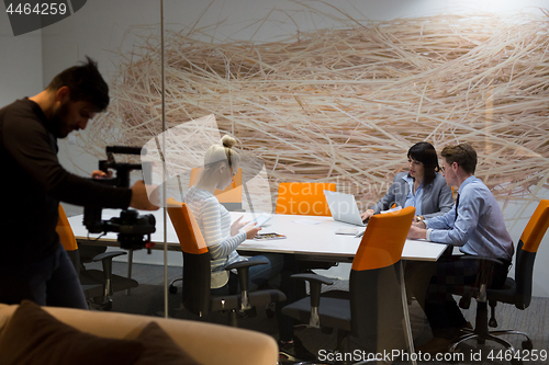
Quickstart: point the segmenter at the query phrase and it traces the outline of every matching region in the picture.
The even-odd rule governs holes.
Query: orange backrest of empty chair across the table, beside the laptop
[[[287,182],[278,185],[277,214],[329,216],[324,191],[336,191],[335,183]]]

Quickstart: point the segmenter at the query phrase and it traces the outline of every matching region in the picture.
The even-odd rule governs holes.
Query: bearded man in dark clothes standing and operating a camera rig
[[[64,70],[49,85],[0,110],[0,303],[88,308],[55,228],[59,201],[107,208],[156,210],[143,181],[131,189],[100,184],[66,171],[57,138],[85,129],[109,105],[97,64]],[[94,178],[102,172],[94,171]]]

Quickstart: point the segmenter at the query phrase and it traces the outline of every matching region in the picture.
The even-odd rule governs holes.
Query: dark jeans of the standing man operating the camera
[[[0,267],[0,303],[20,304],[23,299],[41,306],[88,309],[75,266],[63,246],[42,261]]]

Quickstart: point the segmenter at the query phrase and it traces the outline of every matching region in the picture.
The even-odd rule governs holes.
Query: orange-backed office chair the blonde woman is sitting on
[[[285,300],[285,295],[277,289],[248,290],[248,267],[265,263],[259,260],[236,262],[225,267],[227,271],[237,270],[240,293],[212,296],[210,253],[191,209],[187,204],[169,198],[168,215],[183,254],[182,297],[189,311],[200,317],[211,311],[227,311],[228,323],[236,327],[238,312]]]

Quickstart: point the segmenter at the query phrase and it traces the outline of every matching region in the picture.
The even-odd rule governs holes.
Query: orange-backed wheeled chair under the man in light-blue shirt
[[[485,341],[495,341],[508,350],[515,351],[514,346],[500,338],[502,334],[520,334],[526,338],[522,343],[523,349],[530,351],[533,343],[530,338],[519,331],[515,330],[498,330],[490,331],[490,327],[497,327],[495,320],[495,307],[498,301],[514,305],[516,308],[524,310],[528,308],[531,300],[531,285],[534,276],[534,261],[538,251],[541,239],[544,238],[547,229],[549,228],[549,201],[542,199],[539,202],[538,207],[528,220],[523,235],[516,249],[515,262],[515,278],[507,277],[505,284],[501,288],[490,287],[490,263],[489,260],[480,260],[484,270],[481,270],[481,280],[478,286],[453,286],[456,294],[462,296],[460,307],[468,309],[471,298],[477,299],[477,318],[475,328],[473,331],[466,331],[467,333],[460,335],[450,345],[450,351],[455,351],[457,346],[468,340],[477,340],[479,343]],[[464,294],[463,294],[464,293]],[[491,307],[491,317],[488,319],[488,305]],[[512,361],[519,363],[518,360]]]

